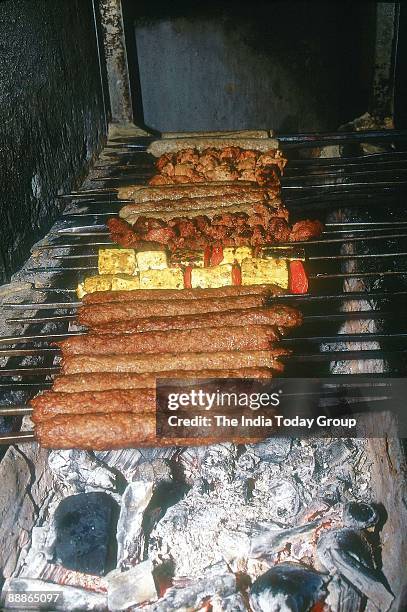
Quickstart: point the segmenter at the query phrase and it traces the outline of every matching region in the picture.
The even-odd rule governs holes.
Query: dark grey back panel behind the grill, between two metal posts
[[[374,2],[124,2],[146,126],[335,130],[369,106]],[[134,38],[134,35],[133,35]],[[135,75],[137,81],[138,75]]]

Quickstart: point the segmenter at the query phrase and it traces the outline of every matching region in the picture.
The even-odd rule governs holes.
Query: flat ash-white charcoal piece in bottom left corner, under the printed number
[[[43,580],[35,580],[32,578],[11,578],[7,580],[3,587],[3,593],[18,594],[22,593],[29,595],[30,593],[41,594],[45,596],[53,595],[52,607],[49,603],[39,604],[35,608],[31,606],[31,610],[56,610],[59,612],[105,612],[107,609],[107,597],[102,593],[93,593],[85,589],[78,589],[72,586],[61,584],[52,584],[52,582],[44,582]],[[0,599],[0,605],[2,601]],[[13,606],[16,609],[15,606]],[[1,607],[3,610],[3,606]],[[21,608],[20,608],[21,610]]]

